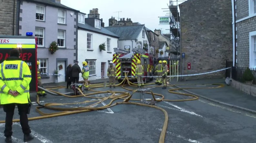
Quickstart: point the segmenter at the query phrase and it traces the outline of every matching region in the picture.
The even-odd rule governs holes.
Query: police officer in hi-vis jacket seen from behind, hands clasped
[[[20,124],[24,133],[24,142],[28,142],[34,137],[30,134],[27,114],[29,113],[31,101],[29,94],[29,84],[31,82],[31,72],[20,58],[18,49],[10,51],[10,57],[0,66],[0,103],[3,105],[5,117],[5,142],[12,142],[12,124],[15,104],[20,115]]]

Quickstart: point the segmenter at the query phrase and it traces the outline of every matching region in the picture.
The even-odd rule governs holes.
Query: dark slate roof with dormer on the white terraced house
[[[85,29],[85,30],[88,30],[88,31],[93,31],[93,32],[100,33],[100,34],[104,34],[104,35],[107,35],[107,36],[112,36],[112,37],[119,38],[118,35],[112,33],[111,31],[108,31],[104,27],[101,27],[101,29],[98,29],[98,28],[95,28],[95,27],[93,27],[93,26],[91,26],[87,23],[84,23],[84,24],[78,23],[78,28]]]

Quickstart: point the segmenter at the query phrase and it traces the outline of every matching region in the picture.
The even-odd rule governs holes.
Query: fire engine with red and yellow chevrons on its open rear
[[[122,82],[126,75],[130,81],[136,80],[135,69],[137,61],[141,61],[141,65],[144,67],[143,76],[153,76],[153,57],[148,53],[131,52],[128,54],[113,54],[113,64],[115,64],[118,82]],[[146,79],[145,79],[146,78]],[[153,80],[153,77],[143,77],[143,80]]]

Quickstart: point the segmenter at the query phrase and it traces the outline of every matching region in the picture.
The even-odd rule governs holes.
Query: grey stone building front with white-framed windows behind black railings
[[[256,66],[256,9],[255,0],[232,0],[233,6],[233,65]]]

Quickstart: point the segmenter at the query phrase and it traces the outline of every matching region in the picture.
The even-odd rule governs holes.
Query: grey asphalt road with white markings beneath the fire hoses
[[[222,80],[224,82],[224,79],[216,79],[215,82],[222,82]],[[198,80],[198,82],[202,81]],[[181,84],[185,83],[188,82],[182,82]],[[65,84],[63,83],[63,85]],[[189,86],[192,87],[195,85]],[[202,86],[203,85],[201,85],[201,87]],[[136,87],[127,87],[131,89],[137,89]],[[171,89],[175,87],[168,88]],[[226,86],[222,88],[226,88]],[[230,87],[228,86],[228,88]],[[64,88],[52,90],[63,93],[69,91],[68,89]],[[95,88],[95,90],[126,91],[120,86],[116,88]],[[164,99],[177,100],[190,98],[184,95],[168,93],[168,89],[162,90],[162,87],[150,87],[150,90],[152,90],[154,93],[164,95]],[[222,96],[227,96],[227,93],[221,93],[219,91],[219,88],[212,88],[207,90],[196,89],[193,92],[202,92],[201,90],[205,90],[204,92],[208,93],[216,92],[217,94],[222,94]],[[187,93],[182,90],[178,92]],[[86,93],[91,92],[86,91]],[[93,96],[105,97],[109,95],[110,94],[96,94]],[[214,94],[212,94],[212,96],[213,95]],[[28,114],[28,116],[40,116],[35,111],[35,107],[37,106],[37,104],[35,103],[35,96],[31,95],[31,98],[31,100],[33,101],[33,105],[31,113]],[[132,98],[139,99],[139,93],[135,93]],[[152,97],[149,94],[145,94],[145,98],[151,99]],[[40,103],[42,104],[77,103],[84,100],[93,101],[94,99],[88,99],[86,97],[68,98],[64,96],[54,96],[50,94],[46,95],[45,97],[40,97]],[[121,101],[123,100],[120,99],[115,102]],[[109,102],[110,100],[106,100],[101,104],[95,105],[95,107],[103,106],[104,104],[108,104]],[[90,104],[93,103],[69,104],[56,107],[75,108],[81,106],[88,106]],[[155,105],[161,107],[168,113],[168,126],[165,134],[165,143],[255,142],[255,114],[241,111],[235,108],[230,108],[219,103],[214,103],[204,98],[183,102],[162,101],[156,103]],[[47,110],[44,108],[41,109],[41,111],[47,113],[58,112]],[[15,110],[14,119],[18,118],[19,115],[17,113],[17,110]],[[5,113],[3,112],[3,110],[0,110],[0,120],[5,120]],[[138,105],[116,105],[100,111],[91,111],[29,121],[29,125],[32,129],[32,134],[35,136],[35,139],[30,141],[29,143],[157,143],[159,141],[163,121],[164,114],[160,110]],[[0,142],[4,142],[4,124],[0,124],[0,130]],[[22,143],[23,133],[21,131],[19,123],[14,123],[13,132],[13,142]]]

